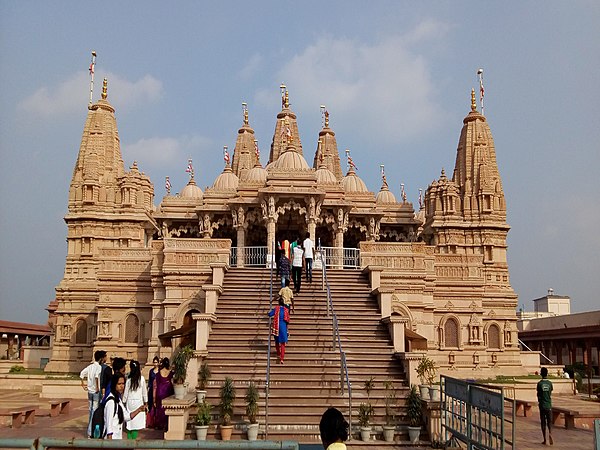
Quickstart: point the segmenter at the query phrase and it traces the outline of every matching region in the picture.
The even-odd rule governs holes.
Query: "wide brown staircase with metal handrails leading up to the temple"
[[[280,288],[273,279],[273,298]],[[225,377],[236,386],[232,439],[245,438],[244,396],[253,380],[260,389],[260,430],[267,429],[271,440],[292,439],[298,442],[319,441],[319,420],[329,406],[349,412],[348,391],[341,389],[340,355],[333,348],[332,318],[327,314],[327,293],[322,289],[320,272],[312,283],[305,283],[294,296],[295,310],[290,317],[289,342],[285,362],[278,364],[275,346],[271,348],[268,419],[265,387],[267,380],[267,345],[269,339],[268,269],[232,268],[224,280],[223,294],[217,307],[217,322],[208,341],[207,362],[212,378],[207,401],[213,405],[213,423],[217,423],[219,388]],[[407,387],[400,362],[393,347],[377,300],[370,295],[368,279],[359,270],[328,270],[333,305],[339,321],[342,348],[346,352],[352,386],[353,430],[358,431],[358,408],[367,400],[365,380],[373,377],[370,401],[375,408],[371,421],[379,428],[385,422],[384,381],[393,380],[398,397],[396,423],[403,424]],[[268,426],[266,426],[268,420]],[[379,441],[382,446],[383,442]]]

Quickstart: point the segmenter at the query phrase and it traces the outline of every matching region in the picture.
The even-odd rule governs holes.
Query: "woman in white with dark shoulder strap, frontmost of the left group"
[[[129,411],[123,403],[125,392],[125,375],[115,372],[110,380],[110,393],[104,401],[104,433],[105,439],[123,439],[123,424],[133,420],[139,413],[146,411],[146,405],[141,405]]]

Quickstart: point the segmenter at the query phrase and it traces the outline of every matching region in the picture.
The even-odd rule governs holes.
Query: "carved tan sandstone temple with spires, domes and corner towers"
[[[47,371],[80,370],[96,349],[146,364],[154,355],[171,357],[182,343],[192,343],[197,359],[210,361],[217,343],[228,342],[216,339],[215,331],[228,320],[235,326],[236,313],[223,303],[228,295],[255,302],[253,335],[262,324],[256,338],[262,347],[251,339],[231,345],[250,345],[264,365],[269,286],[258,280],[267,276],[277,242],[310,235],[320,243],[331,283],[339,283],[342,295],[336,298],[333,289],[332,297],[334,307],[340,305],[340,333],[346,323],[360,325],[360,312],[344,319],[348,309],[372,303],[372,342],[384,341],[399,378],[411,377],[410,363],[422,354],[453,376],[522,372],[506,203],[492,133],[475,94],[454,171],[441,172],[418,210],[405,195],[394,196],[385,175],[375,193],[351,159],[344,174],[328,113],[312,138],[315,154],[305,156],[289,105],[284,89],[266,167],[246,109],[231,161],[227,155],[212,186],[202,191],[192,170],[178,194],[168,192],[156,205],[154,185],[137,163],[124,167],[105,80],[102,98],[89,107],[69,189],[68,253],[48,307],[55,334]],[[315,270],[315,280],[298,297],[301,307],[325,302],[320,273]],[[228,285],[233,274],[257,282],[234,292]],[[343,289],[353,283],[366,288],[348,306]],[[279,281],[273,284],[276,293]],[[244,320],[239,329],[252,328],[254,316],[246,320],[238,313]],[[312,320],[304,313],[310,311],[294,319],[296,335],[304,332],[302,320]],[[352,333],[345,339],[351,348]],[[371,338],[356,340],[368,352]]]

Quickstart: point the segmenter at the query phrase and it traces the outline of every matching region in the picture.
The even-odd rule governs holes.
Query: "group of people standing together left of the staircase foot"
[[[162,401],[173,395],[169,359],[154,357],[148,383],[138,361],[129,361],[129,373],[124,358],[111,358],[110,365],[106,361],[106,352],[97,350],[94,361],[80,373],[81,386],[87,391],[89,401],[88,438],[123,439],[125,430],[127,439],[137,439],[139,430],[144,428],[166,430]],[[99,407],[103,408],[102,430],[93,424],[94,412]]]

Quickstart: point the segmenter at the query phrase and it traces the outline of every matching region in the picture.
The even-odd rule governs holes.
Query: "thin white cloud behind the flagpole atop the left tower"
[[[108,100],[115,108],[131,107],[150,103],[163,93],[162,82],[151,75],[137,81],[129,81],[113,73],[107,73]],[[89,101],[89,76],[80,71],[54,87],[41,87],[22,100],[18,109],[35,116],[50,117],[79,114]],[[100,98],[102,78],[94,80],[94,101]]]

